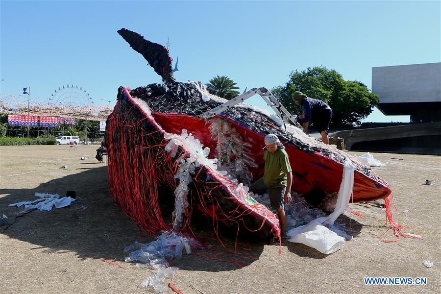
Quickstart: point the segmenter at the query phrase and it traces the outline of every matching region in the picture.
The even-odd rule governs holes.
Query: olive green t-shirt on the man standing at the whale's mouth
[[[277,147],[274,153],[264,149],[265,173],[264,182],[267,187],[286,187],[286,173],[291,172],[288,153],[285,149]]]

